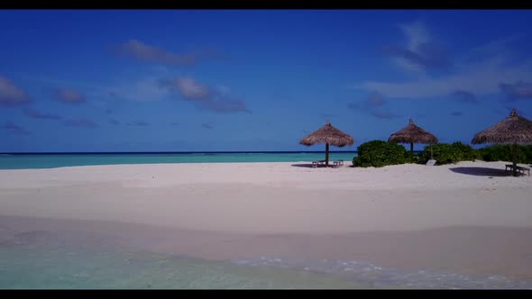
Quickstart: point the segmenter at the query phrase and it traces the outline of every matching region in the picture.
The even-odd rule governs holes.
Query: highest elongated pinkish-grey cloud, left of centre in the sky
[[[192,50],[187,53],[176,53],[135,39],[116,44],[114,49],[115,53],[119,56],[175,67],[194,66],[206,59],[226,59],[225,55],[222,55],[215,49],[201,49]]]

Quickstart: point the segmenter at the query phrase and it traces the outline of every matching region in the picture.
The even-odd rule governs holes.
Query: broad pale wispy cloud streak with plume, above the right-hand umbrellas
[[[401,28],[408,37],[405,46],[408,50],[422,49],[423,44],[432,41],[423,23],[411,23]],[[365,81],[353,87],[370,92],[378,91],[390,98],[428,99],[453,96],[458,101],[476,103],[478,96],[500,93],[501,83],[532,81],[532,59],[516,60],[509,47],[521,37],[522,35],[505,37],[463,51],[463,54],[454,58],[460,63],[454,64],[454,68],[446,69],[445,73],[438,74],[437,77],[424,73],[426,68],[421,67],[423,63],[415,63],[416,59],[401,57],[399,60],[403,66],[417,68],[422,73],[407,80]],[[438,56],[434,56],[436,57]],[[509,89],[508,86],[506,88]]]

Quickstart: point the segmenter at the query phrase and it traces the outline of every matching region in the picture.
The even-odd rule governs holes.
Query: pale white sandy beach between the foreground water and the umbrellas
[[[203,258],[363,259],[532,279],[532,177],[508,177],[504,164],[0,170],[0,238],[99,231]]]

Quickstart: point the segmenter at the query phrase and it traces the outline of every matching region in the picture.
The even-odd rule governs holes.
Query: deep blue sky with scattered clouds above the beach
[[[0,151],[323,150],[532,119],[532,11],[0,11]],[[338,149],[338,148],[332,148]],[[415,149],[421,149],[417,145]]]

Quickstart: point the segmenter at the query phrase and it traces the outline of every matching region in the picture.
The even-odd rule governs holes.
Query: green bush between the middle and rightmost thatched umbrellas
[[[426,146],[420,155],[419,161],[421,163],[427,163],[430,159],[431,146]],[[436,164],[450,164],[460,161],[474,161],[480,159],[479,152],[472,149],[471,146],[463,144],[462,142],[438,143],[432,145],[433,159],[436,160]]]

